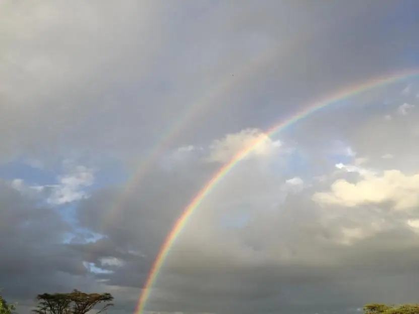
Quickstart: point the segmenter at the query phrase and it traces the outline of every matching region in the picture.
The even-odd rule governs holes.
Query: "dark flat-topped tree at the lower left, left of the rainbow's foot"
[[[37,314],[86,314],[97,304],[105,303],[97,312],[100,313],[113,305],[110,293],[84,293],[77,289],[70,293],[38,294],[36,299],[38,305],[33,311]]]

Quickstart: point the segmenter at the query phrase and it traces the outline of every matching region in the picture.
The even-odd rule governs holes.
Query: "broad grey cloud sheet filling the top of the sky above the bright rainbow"
[[[14,137],[2,140],[4,158],[137,157],[173,130],[171,142],[188,143],[265,127],[348,82],[408,67],[415,28],[394,3],[303,3],[8,5],[2,134]]]

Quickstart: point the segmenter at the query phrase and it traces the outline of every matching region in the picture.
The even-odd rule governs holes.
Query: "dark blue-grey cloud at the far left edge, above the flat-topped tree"
[[[0,182],[0,203],[0,287],[5,297],[33,300],[44,291],[94,286],[81,256],[62,244],[72,229],[56,210],[39,207],[5,181]]]

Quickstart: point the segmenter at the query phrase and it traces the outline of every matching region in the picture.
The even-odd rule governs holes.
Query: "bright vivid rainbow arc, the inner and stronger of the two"
[[[325,97],[324,99],[315,102],[314,104],[310,105],[306,109],[295,113],[289,119],[276,124],[273,128],[269,129],[265,134],[267,136],[272,136],[279,131],[284,130],[289,125],[294,124],[295,122],[304,119],[311,114],[323,109],[325,107],[331,106],[333,104],[338,103],[339,101],[361,94],[373,88],[382,87],[385,85],[397,83],[399,81],[413,79],[419,76],[419,70],[409,70],[404,71],[398,74],[393,74],[386,77],[379,77],[369,81],[366,81],[361,84],[352,85],[346,88],[339,90],[338,92]],[[216,174],[205,184],[205,186],[201,189],[201,191],[197,194],[197,196],[192,200],[192,202],[186,207],[182,215],[177,219],[175,224],[173,225],[172,230],[167,235],[163,245],[160,248],[160,252],[157,255],[157,258],[149,272],[149,276],[147,281],[144,285],[143,292],[140,296],[136,313],[142,313],[144,310],[145,303],[150,296],[151,288],[159,274],[159,271],[164,263],[167,254],[169,253],[170,247],[173,245],[174,241],[176,240],[179,233],[185,227],[188,222],[188,218],[191,217],[193,212],[199,207],[202,201],[212,192],[212,190],[216,187],[217,183],[224,178],[227,173],[242,159],[244,159],[261,141],[264,140],[264,137],[256,140],[250,146],[245,148],[244,150],[238,152],[228,163],[223,165]]]

